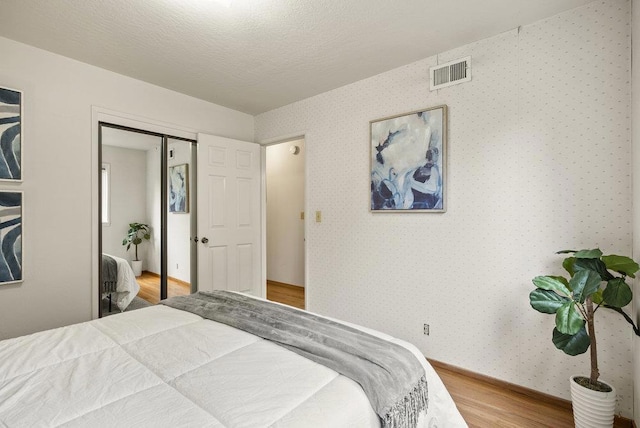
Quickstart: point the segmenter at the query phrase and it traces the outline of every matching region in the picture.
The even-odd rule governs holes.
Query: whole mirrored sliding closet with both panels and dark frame
[[[195,291],[196,142],[98,126],[99,316]]]

